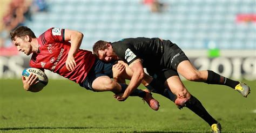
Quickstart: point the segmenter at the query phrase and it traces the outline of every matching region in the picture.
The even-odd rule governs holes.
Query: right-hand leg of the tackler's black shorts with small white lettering
[[[161,62],[161,68],[163,69],[172,69],[177,71],[179,63],[188,60],[183,50],[170,40],[163,41],[163,48],[164,53]]]

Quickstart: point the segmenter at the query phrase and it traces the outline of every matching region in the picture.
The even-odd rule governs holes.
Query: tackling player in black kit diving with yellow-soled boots
[[[159,38],[127,38],[117,42],[97,41],[93,46],[93,53],[100,60],[109,62],[123,60],[134,72],[126,91],[116,98],[124,101],[129,97],[134,88],[143,79],[144,69],[150,76],[168,86],[184,102],[176,102],[182,108],[186,106],[204,119],[213,131],[220,131],[220,124],[207,113],[200,101],[191,95],[181,82],[178,73],[188,80],[205,82],[208,84],[227,85],[240,92],[244,97],[250,93],[250,88],[244,84],[224,76],[220,76],[211,70],[199,71],[193,67],[184,52],[170,40]],[[150,87],[148,87],[150,89]],[[181,103],[181,104],[180,104]]]

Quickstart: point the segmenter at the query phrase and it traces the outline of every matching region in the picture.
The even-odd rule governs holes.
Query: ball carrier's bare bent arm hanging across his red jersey
[[[73,71],[76,67],[75,55],[82,43],[83,33],[78,31],[72,31],[69,29],[65,29],[64,39],[65,41],[71,42],[71,47],[68,53],[68,58],[66,59],[66,68],[69,71]]]

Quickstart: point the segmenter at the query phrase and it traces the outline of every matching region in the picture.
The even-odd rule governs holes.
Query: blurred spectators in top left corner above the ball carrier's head
[[[46,12],[44,0],[1,0],[0,11],[0,49],[11,49],[10,31],[22,26],[26,21],[32,21],[32,15]],[[2,53],[3,54],[3,53]]]

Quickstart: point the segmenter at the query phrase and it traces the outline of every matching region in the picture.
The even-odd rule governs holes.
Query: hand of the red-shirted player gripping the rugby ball
[[[22,76],[22,82],[23,82],[23,88],[24,88],[26,91],[29,91],[29,88],[30,88],[32,85],[38,83],[39,80],[37,80],[36,75],[34,75],[33,73],[31,73],[28,78],[25,78],[24,76]]]

